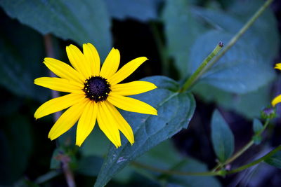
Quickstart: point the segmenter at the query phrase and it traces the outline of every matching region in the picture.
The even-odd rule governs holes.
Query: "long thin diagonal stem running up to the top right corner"
[[[200,76],[202,76],[202,74],[204,74],[212,65],[214,65],[214,63],[218,62],[218,60],[221,59],[221,57],[237,42],[238,39],[240,39],[240,37],[242,36],[242,34],[244,34],[244,32],[247,31],[247,29],[249,29],[249,27],[251,27],[251,25],[254,24],[254,22],[256,21],[256,19],[259,18],[259,16],[261,15],[261,13],[263,13],[263,11],[266,10],[266,8],[268,8],[268,6],[272,3],[273,0],[268,0],[266,1],[263,6],[261,6],[259,8],[258,11],[256,11],[256,13],[254,13],[254,15],[248,20],[248,22],[240,29],[239,32],[237,32],[237,34],[235,34],[235,36],[233,36],[233,38],[228,42],[228,44],[226,45],[226,48],[224,48],[221,53],[219,53],[214,60],[212,60],[209,64],[208,67],[206,67],[206,65],[204,66],[205,68],[200,69],[200,74],[198,74],[196,71],[195,73],[197,74],[197,76],[194,76],[194,74],[192,74],[192,76],[185,82],[185,84],[183,85],[183,88],[181,89],[181,92],[187,90],[188,88],[191,87],[192,84],[195,83],[195,81],[197,81],[198,78],[200,78]],[[202,64],[204,64],[204,61],[202,62]],[[190,80],[191,79],[191,80]],[[190,82],[190,83],[188,83]]]

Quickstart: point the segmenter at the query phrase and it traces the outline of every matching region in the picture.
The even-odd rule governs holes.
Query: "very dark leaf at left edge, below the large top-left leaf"
[[[0,24],[0,84],[15,95],[46,100],[49,92],[33,83],[46,75],[42,36],[5,15]]]

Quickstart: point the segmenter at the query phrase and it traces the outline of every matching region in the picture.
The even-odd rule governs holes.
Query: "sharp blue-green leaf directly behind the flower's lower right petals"
[[[143,81],[157,85],[157,89],[136,95],[134,98],[151,104],[158,116],[122,111],[133,128],[135,143],[122,141],[118,149],[110,146],[95,186],[105,186],[122,168],[160,142],[188,127],[195,110],[195,100],[190,93],[178,93],[178,83],[164,76],[152,76]]]

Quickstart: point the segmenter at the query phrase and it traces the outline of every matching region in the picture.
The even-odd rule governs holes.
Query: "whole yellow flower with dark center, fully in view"
[[[58,138],[79,120],[76,144],[81,146],[97,120],[100,130],[117,148],[121,146],[119,130],[133,144],[133,130],[115,106],[126,111],[157,115],[157,110],[149,104],[125,97],[157,87],[146,81],[119,83],[148,59],[138,57],[117,71],[120,53],[115,48],[107,55],[101,69],[100,57],[91,43],[83,45],[83,53],[73,45],[67,46],[66,51],[74,69],[60,60],[46,57],[44,64],[60,78],[41,77],[34,80],[34,84],[69,93],[45,102],[34,113],[34,117],[38,119],[69,107],[55,122],[48,138]]]

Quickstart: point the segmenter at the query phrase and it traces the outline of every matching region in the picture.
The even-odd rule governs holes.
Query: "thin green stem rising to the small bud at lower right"
[[[266,123],[263,125],[262,130],[257,133],[257,135],[261,135],[261,133],[266,130],[266,127],[268,127],[270,119],[266,119]],[[251,141],[249,141],[243,148],[240,149],[240,151],[237,151],[237,153],[235,153],[232,157],[228,158],[228,160],[226,160],[226,162],[223,163],[218,163],[218,165],[216,165],[216,167],[214,167],[214,169],[212,169],[212,171],[216,171],[216,169],[222,168],[225,165],[228,165],[230,162],[233,162],[233,160],[235,160],[236,158],[240,157],[240,155],[242,155],[245,151],[247,151],[252,145],[254,144],[254,141],[251,139]]]

